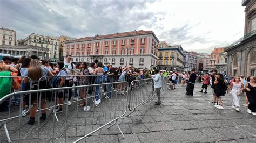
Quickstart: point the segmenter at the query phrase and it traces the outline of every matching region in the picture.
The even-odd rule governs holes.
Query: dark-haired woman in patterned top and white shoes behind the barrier
[[[87,69],[87,64],[86,62],[82,62],[81,63],[81,69],[80,69],[80,73],[78,73],[78,75],[84,75],[82,77],[79,78],[78,80],[78,85],[89,85],[89,70]],[[78,104],[78,106],[84,106],[84,111],[88,111],[90,110],[90,106],[85,106],[85,98],[86,98],[86,89],[87,87],[81,88],[80,89],[80,94],[81,94],[81,98],[82,101],[80,104]]]

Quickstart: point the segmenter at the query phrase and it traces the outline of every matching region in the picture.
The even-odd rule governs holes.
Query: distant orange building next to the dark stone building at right
[[[210,58],[210,70],[217,69],[216,65],[219,63],[221,53],[224,53],[223,47],[213,49]]]

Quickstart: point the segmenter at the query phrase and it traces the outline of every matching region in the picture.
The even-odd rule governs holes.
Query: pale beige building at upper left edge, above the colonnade
[[[8,28],[0,28],[0,45],[16,45],[16,32]]]

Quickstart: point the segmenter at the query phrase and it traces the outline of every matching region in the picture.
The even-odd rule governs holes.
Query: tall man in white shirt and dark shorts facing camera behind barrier
[[[66,55],[66,59],[64,61],[64,68],[66,69],[67,75],[70,75],[70,77],[66,77],[65,79],[65,87],[72,87],[73,86],[73,77],[71,75],[75,75],[75,69],[76,66],[71,62],[71,55]],[[69,96],[68,96],[68,105],[71,105],[70,99],[72,97],[72,89],[68,90]],[[65,96],[64,96],[65,101]]]

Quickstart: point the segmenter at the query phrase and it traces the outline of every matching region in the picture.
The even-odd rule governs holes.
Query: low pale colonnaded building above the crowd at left
[[[37,55],[39,60],[47,60],[49,58],[49,49],[38,46],[10,46],[0,45],[0,53],[9,54],[11,56],[31,56]]]

